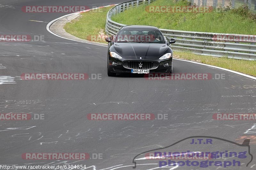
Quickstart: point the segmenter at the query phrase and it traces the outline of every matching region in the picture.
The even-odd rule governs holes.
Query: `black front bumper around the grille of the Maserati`
[[[131,73],[132,69],[124,68],[124,61],[155,61],[158,63],[158,67],[156,69],[149,70],[149,73],[169,73],[172,69],[172,58],[166,60],[125,60],[125,59],[117,59],[113,57],[108,58],[108,69],[110,72],[114,73]],[[112,62],[117,63],[117,65],[112,65]],[[169,63],[169,66],[164,66],[165,63]]]

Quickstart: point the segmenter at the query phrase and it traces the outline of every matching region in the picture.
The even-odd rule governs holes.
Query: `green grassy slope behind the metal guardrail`
[[[150,5],[186,6],[187,2],[157,0]],[[256,35],[256,20],[242,16],[235,10],[209,13],[149,13],[145,10],[146,6],[130,8],[113,16],[112,20],[126,25],[150,25],[172,30]]]

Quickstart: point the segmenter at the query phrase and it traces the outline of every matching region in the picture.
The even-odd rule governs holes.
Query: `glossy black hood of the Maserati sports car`
[[[124,57],[158,57],[164,53],[168,46],[160,43],[115,43],[117,53]]]

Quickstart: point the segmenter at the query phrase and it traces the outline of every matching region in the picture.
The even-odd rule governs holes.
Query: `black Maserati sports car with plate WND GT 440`
[[[108,76],[116,73],[172,73],[172,48],[155,26],[124,26],[108,42]]]

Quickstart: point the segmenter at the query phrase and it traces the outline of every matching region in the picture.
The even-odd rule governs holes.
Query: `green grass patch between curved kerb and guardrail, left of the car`
[[[106,16],[111,8],[105,7],[98,12],[84,12],[79,18],[67,23],[64,29],[66,32],[85,40],[91,35],[105,34]],[[107,43],[105,40],[97,42]]]

